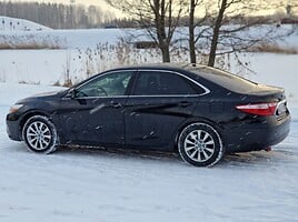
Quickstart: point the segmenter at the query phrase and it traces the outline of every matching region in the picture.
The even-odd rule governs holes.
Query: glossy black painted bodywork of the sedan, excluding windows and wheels
[[[135,68],[121,68],[115,71],[131,69]],[[195,97],[130,97],[133,90],[130,85],[127,95],[122,97],[97,99],[69,97],[71,90],[79,84],[56,94],[43,94],[19,101],[18,103],[24,107],[7,117],[9,137],[12,140],[22,140],[21,125],[28,117],[36,113],[51,118],[62,144],[120,144],[173,150],[179,132],[186,125],[198,121],[210,123],[218,130],[227,152],[261,150],[280,142],[289,133],[288,111],[284,118],[278,119],[275,115],[257,117],[236,109],[239,104],[281,101],[285,94],[279,88],[257,85],[254,91],[240,94],[175,67],[136,69],[179,72],[210,89],[210,92]]]

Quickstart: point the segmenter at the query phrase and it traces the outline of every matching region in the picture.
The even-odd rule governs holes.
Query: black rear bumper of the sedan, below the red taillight
[[[282,120],[275,117],[255,119],[254,122],[240,123],[236,129],[222,133],[227,153],[265,150],[276,145],[290,132],[290,114]]]

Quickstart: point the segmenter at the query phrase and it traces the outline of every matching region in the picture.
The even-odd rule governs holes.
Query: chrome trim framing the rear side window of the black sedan
[[[130,98],[145,98],[145,97],[149,97],[149,98],[156,98],[156,97],[159,97],[159,98],[160,97],[171,97],[171,98],[177,98],[177,97],[201,97],[201,95],[210,93],[210,90],[207,87],[202,85],[201,83],[197,82],[196,80],[193,80],[193,79],[191,79],[191,78],[189,78],[189,77],[187,77],[187,75],[185,75],[185,74],[182,74],[180,72],[177,72],[177,71],[161,70],[161,69],[138,69],[137,71],[138,72],[137,72],[137,78],[135,80],[135,85],[133,85],[132,93],[135,93],[136,82],[137,82],[137,80],[139,78],[140,72],[142,72],[142,71],[146,71],[146,72],[167,72],[167,73],[172,73],[172,74],[180,75],[183,79],[187,79],[188,81],[190,81],[190,82],[195,83],[196,85],[200,87],[202,90],[205,90],[205,92],[200,93],[200,94],[147,94],[147,95],[146,94],[138,95],[138,94],[132,94],[131,93],[131,94],[129,94]]]

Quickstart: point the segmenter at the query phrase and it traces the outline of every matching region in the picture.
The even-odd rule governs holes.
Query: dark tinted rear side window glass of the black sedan
[[[187,79],[171,72],[141,71],[135,87],[136,95],[198,94]]]

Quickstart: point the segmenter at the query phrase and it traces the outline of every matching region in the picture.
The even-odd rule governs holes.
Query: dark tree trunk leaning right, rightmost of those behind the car
[[[227,7],[227,0],[221,0],[221,6],[220,6],[218,17],[215,23],[215,28],[213,28],[213,36],[211,40],[211,48],[210,48],[209,61],[208,61],[209,67],[215,67],[218,37],[219,37],[219,31],[220,31],[220,27],[222,23],[224,14],[226,11],[226,7]]]

